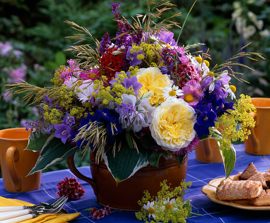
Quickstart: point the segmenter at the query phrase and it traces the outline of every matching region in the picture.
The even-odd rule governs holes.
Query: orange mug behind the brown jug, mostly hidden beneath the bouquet
[[[200,141],[197,147],[195,147],[195,156],[197,161],[203,163],[223,162],[221,153],[218,148],[219,147],[215,139],[206,139]]]

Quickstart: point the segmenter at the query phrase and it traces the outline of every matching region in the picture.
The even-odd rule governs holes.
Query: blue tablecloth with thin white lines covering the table
[[[242,144],[234,146],[236,150],[236,164],[232,175],[242,172],[248,165],[253,162],[259,172],[267,172],[270,165],[270,155],[254,156],[245,153]],[[80,172],[86,176],[91,176],[90,167],[84,166],[78,168]],[[269,211],[242,210],[234,207],[229,207],[214,203],[201,192],[201,187],[207,184],[210,180],[217,177],[223,177],[225,174],[223,163],[201,163],[195,159],[195,152],[188,155],[188,170],[187,181],[192,182],[192,186],[185,194],[185,199],[191,198],[193,212],[199,213],[202,216],[191,216],[187,219],[191,222],[270,222]],[[5,198],[15,198],[38,204],[40,201],[52,202],[58,196],[56,184],[65,177],[75,177],[69,169],[57,170],[52,172],[42,173],[40,189],[25,193],[11,193],[4,190],[3,180],[0,179],[0,196]],[[85,195],[78,200],[68,200],[65,204],[65,209],[69,213],[81,212],[81,215],[70,221],[70,223],[84,222],[143,222],[136,219],[134,212],[111,210],[112,214],[105,216],[102,219],[92,219],[89,211],[83,211],[86,208],[96,207],[103,208],[96,202],[96,197],[91,186],[78,179],[86,191]]]

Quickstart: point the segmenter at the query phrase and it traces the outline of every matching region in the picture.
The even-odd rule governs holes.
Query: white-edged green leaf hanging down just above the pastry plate
[[[219,144],[219,143],[218,143]],[[222,160],[224,163],[224,168],[226,172],[226,179],[230,176],[232,170],[234,169],[235,161],[236,161],[236,152],[234,147],[231,145],[230,149],[224,149],[220,151],[222,155]]]

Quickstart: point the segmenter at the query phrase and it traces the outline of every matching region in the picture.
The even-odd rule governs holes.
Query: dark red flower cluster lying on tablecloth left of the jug
[[[73,200],[81,198],[85,194],[82,185],[73,177],[70,177],[69,179],[68,177],[65,177],[65,179],[59,182],[56,186],[59,189],[59,191],[56,192],[59,197],[66,195],[68,198]]]

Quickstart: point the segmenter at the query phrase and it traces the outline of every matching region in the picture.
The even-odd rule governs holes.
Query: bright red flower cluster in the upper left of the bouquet
[[[122,71],[124,55],[123,53],[114,55],[113,52],[117,50],[117,47],[108,48],[104,53],[101,54],[102,57],[99,58],[100,68],[103,70],[104,75],[108,78],[108,82],[115,77],[116,72]]]

